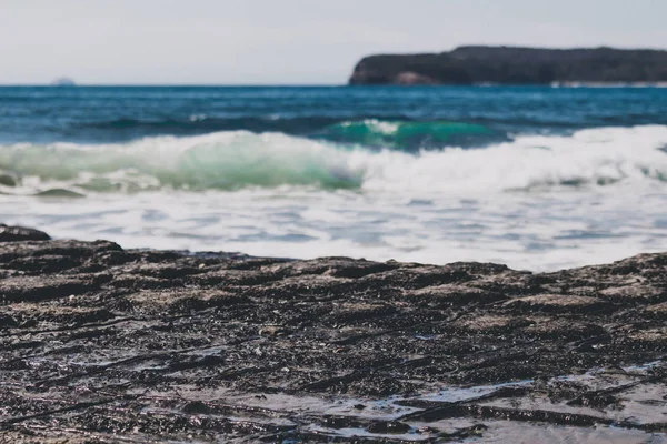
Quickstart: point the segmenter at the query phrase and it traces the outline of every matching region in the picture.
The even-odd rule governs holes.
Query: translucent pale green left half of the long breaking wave
[[[125,144],[17,144],[0,149],[0,171],[20,185],[89,191],[246,186],[359,188],[364,172],[346,151],[280,133],[246,131],[146,138]]]

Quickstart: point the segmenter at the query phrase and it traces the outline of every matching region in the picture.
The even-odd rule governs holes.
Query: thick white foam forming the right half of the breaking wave
[[[606,128],[567,137],[519,137],[486,149],[354,152],[365,190],[488,193],[552,185],[667,180],[667,127]]]

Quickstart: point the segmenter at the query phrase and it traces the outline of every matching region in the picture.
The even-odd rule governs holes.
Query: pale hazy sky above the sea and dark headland
[[[344,84],[372,53],[667,48],[667,0],[0,0],[0,84]]]

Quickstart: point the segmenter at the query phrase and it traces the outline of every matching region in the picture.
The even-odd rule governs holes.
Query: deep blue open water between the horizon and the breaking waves
[[[355,142],[336,127],[366,120],[456,122],[514,134],[667,124],[664,88],[0,87],[0,107],[2,142],[236,130]],[[421,139],[409,148],[430,142]]]

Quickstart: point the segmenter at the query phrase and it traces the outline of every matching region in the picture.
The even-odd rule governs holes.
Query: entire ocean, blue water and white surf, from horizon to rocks
[[[0,222],[550,271],[667,251],[667,89],[0,88]]]

